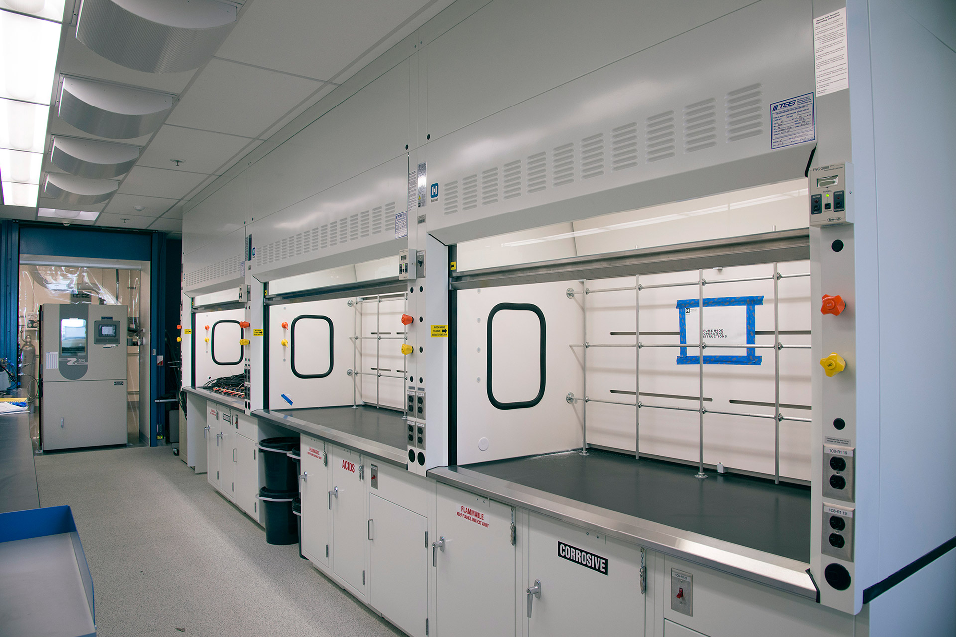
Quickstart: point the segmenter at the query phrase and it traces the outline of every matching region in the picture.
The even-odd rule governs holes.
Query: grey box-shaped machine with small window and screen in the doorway
[[[126,306],[40,307],[45,451],[126,444]]]

